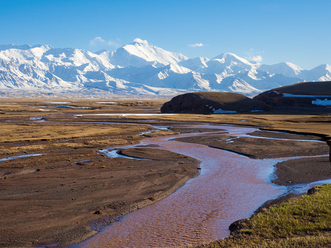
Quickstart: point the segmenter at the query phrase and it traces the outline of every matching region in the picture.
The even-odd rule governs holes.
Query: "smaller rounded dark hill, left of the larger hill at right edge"
[[[194,92],[178,95],[161,107],[162,113],[235,113],[269,111],[262,101],[230,92]]]

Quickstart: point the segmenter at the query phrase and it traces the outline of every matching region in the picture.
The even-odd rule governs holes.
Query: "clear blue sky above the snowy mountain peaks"
[[[311,69],[331,63],[330,7],[306,0],[2,1],[0,44],[95,52],[140,38],[190,58],[230,52]]]

